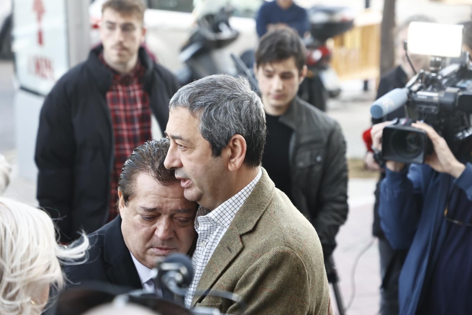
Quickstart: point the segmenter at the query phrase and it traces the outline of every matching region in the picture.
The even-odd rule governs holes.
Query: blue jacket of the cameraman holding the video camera
[[[402,315],[414,315],[421,303],[423,285],[430,279],[427,267],[437,260],[450,227],[443,213],[454,186],[464,191],[472,208],[470,163],[457,179],[428,165],[386,171],[380,188],[380,224],[393,248],[410,248],[398,283]]]

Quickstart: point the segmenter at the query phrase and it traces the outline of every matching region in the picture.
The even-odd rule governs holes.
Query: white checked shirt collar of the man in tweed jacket
[[[255,185],[259,182],[262,175],[262,169],[259,167],[259,173],[256,177],[247,184],[243,189],[237,192],[233,197],[220,204],[213,211],[200,206],[195,217],[195,230],[198,232],[200,224],[207,222],[215,222],[220,226],[228,227],[236,215],[236,212],[241,208],[247,197],[253,192]],[[231,205],[231,207],[230,207]],[[228,211],[228,209],[231,209]]]

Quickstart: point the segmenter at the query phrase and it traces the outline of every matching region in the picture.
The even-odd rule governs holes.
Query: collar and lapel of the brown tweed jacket
[[[192,306],[202,301],[205,295],[201,295],[200,292],[211,289],[228,265],[243,250],[244,244],[241,236],[254,229],[272,200],[274,188],[274,183],[270,180],[266,170],[262,168],[262,176],[259,182],[237,211],[231,225],[211,255],[198,283],[197,292],[199,294],[194,296]]]

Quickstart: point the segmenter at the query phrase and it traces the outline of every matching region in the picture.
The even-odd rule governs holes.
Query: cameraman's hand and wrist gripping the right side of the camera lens
[[[455,158],[451,149],[447,146],[446,140],[424,122],[412,123],[412,127],[426,131],[426,134],[433,143],[434,151],[430,156],[426,157],[426,164],[439,173],[447,173],[455,178],[459,177],[464,171],[465,165]]]

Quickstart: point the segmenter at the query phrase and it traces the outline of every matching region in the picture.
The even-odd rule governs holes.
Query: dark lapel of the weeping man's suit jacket
[[[121,233],[121,217],[118,215],[109,223],[103,241],[103,259],[110,265],[106,271],[111,283],[142,289],[128,247]]]

